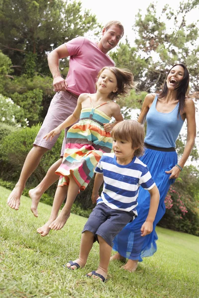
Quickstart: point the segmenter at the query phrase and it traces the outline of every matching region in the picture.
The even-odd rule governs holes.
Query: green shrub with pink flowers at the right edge
[[[165,198],[166,214],[160,225],[199,235],[199,170],[184,167]]]

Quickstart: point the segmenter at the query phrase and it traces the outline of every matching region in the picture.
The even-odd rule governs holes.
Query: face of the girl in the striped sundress
[[[97,88],[101,93],[116,92],[118,90],[116,76],[108,69],[103,70],[97,81]]]

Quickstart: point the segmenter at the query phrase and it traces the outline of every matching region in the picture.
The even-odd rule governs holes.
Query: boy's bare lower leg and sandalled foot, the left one
[[[78,263],[81,268],[83,268],[87,263],[87,259],[92,249],[93,243],[94,243],[94,234],[92,232],[85,231],[84,233],[82,233],[79,258],[73,261],[74,263]],[[71,266],[70,263],[67,263],[66,266],[73,270],[77,269],[77,266],[75,265]]]

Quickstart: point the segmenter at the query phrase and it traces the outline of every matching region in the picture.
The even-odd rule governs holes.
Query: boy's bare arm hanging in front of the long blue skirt
[[[152,232],[153,222],[156,217],[159,200],[160,200],[159,190],[156,185],[149,190],[149,193],[151,196],[150,208],[149,208],[149,213],[148,213],[147,219],[146,219],[145,223],[142,224],[142,227],[141,227],[141,236],[146,236]]]

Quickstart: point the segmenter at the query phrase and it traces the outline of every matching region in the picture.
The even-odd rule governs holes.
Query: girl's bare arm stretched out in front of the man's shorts
[[[80,113],[82,110],[82,102],[85,99],[84,94],[80,94],[77,100],[77,106],[73,112],[72,115],[70,115],[62,124],[60,124],[58,127],[50,131],[47,135],[44,136],[44,139],[46,141],[50,138],[50,141],[52,140],[53,137],[58,135],[63,129],[67,128],[68,126],[71,126],[74,124],[79,118],[80,118]]]

